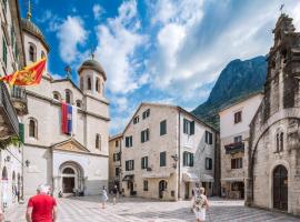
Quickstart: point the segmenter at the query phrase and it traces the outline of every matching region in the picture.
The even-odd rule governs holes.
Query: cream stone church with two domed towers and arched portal
[[[30,12],[21,27],[27,64],[48,57],[49,44]],[[39,85],[26,88],[28,111],[20,117],[24,125],[24,195],[34,194],[42,183],[50,184],[54,195],[97,194],[108,183],[106,72],[93,58],[79,68],[79,87],[68,72],[56,80],[46,70]],[[62,103],[72,109],[70,133],[61,130]]]

